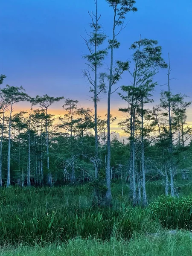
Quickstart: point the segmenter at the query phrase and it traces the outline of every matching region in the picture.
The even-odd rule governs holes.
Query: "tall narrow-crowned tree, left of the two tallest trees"
[[[97,13],[97,0],[95,0],[96,13],[88,12],[91,17],[90,27],[93,28],[93,31],[88,35],[88,40],[84,39],[85,44],[87,45],[87,49],[89,50],[88,55],[84,55],[84,58],[88,61],[87,66],[88,69],[84,70],[84,76],[87,78],[90,84],[90,92],[93,93],[93,101],[94,101],[94,132],[95,132],[95,179],[98,178],[98,122],[97,122],[97,102],[99,101],[99,95],[101,93],[105,93],[105,73],[99,73],[98,69],[102,66],[102,61],[107,55],[107,49],[98,49],[105,41],[106,35],[102,32],[102,26],[99,25],[99,20],[101,15]],[[91,73],[93,72],[93,77]],[[98,76],[99,76],[99,84],[98,84]],[[96,197],[98,192],[96,191]]]

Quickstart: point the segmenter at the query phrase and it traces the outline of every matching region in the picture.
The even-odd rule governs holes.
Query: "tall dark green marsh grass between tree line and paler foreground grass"
[[[91,237],[92,240],[89,242],[110,241],[111,243],[111,239],[114,239],[117,244],[121,244],[123,240],[130,241],[135,234],[142,237],[148,233],[162,231],[163,226],[177,228],[177,223],[180,223],[178,226],[180,228],[191,227],[189,225],[191,196],[190,200],[181,200],[186,202],[185,216],[190,217],[185,218],[188,226],[186,227],[185,223],[182,226],[180,217],[178,222],[178,215],[177,223],[175,221],[174,225],[163,224],[162,219],[166,219],[166,204],[169,205],[169,201],[165,202],[163,208],[165,199],[160,197],[159,203],[155,199],[163,193],[163,189],[160,181],[147,183],[149,201],[156,202],[154,206],[157,211],[156,214],[152,214],[151,207],[145,209],[139,206],[131,207],[128,186],[118,182],[112,185],[113,207],[111,208],[92,206],[93,188],[89,184],[52,188],[2,188],[0,189],[0,245],[22,243],[23,246],[37,246],[37,244],[43,246],[49,243],[61,244],[74,241],[72,239],[77,237],[80,238],[79,241],[84,239],[80,243],[87,242],[86,239]],[[181,195],[185,194],[185,198],[187,198],[186,193],[189,195],[191,191],[190,185],[182,186],[180,189]],[[175,200],[177,202],[177,199]],[[159,204],[161,208],[158,208]],[[175,207],[174,203],[173,207]],[[169,215],[169,222],[175,220],[176,215],[172,216],[172,208]]]

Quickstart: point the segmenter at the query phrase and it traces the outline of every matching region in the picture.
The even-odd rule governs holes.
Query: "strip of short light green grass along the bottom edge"
[[[18,245],[1,247],[0,256],[191,256],[192,238],[189,232],[175,236],[164,233],[160,237],[140,236],[131,241],[99,241],[73,239],[65,244],[47,244],[45,247]]]

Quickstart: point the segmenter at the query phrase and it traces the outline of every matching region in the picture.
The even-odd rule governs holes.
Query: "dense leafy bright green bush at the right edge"
[[[192,230],[192,197],[161,196],[149,208],[152,217],[158,219],[163,227]]]

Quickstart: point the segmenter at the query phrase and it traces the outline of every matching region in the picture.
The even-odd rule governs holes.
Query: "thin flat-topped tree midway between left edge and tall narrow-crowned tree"
[[[46,148],[47,148],[47,183],[49,186],[52,186],[52,174],[49,169],[49,131],[48,131],[48,108],[54,104],[55,102],[59,102],[61,99],[64,99],[64,97],[50,97],[47,94],[44,94],[42,97],[41,96],[36,96],[35,101],[37,104],[41,106],[45,110],[46,113]]]

